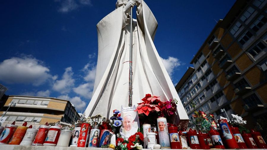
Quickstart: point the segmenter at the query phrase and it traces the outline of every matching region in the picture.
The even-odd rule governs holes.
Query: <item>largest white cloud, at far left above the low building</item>
[[[24,83],[39,86],[52,75],[43,62],[31,56],[12,57],[0,63],[0,80],[5,83]]]

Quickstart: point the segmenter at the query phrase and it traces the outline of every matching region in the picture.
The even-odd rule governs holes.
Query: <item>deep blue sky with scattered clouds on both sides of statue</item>
[[[176,84],[235,1],[146,0],[158,21],[154,44]],[[116,0],[0,2],[0,83],[7,95],[68,99],[80,112],[93,91],[96,24]]]

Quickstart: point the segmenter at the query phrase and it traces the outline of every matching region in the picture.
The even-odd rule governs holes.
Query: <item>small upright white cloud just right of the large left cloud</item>
[[[72,78],[73,72],[71,67],[67,67],[61,80],[55,80],[53,90],[60,92],[61,94],[67,93],[74,86],[75,80]]]

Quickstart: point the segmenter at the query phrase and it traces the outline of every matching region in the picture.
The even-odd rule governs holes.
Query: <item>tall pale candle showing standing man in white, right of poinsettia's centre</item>
[[[159,144],[161,147],[170,147],[170,138],[167,128],[167,120],[166,118],[158,118],[158,137],[159,137]]]

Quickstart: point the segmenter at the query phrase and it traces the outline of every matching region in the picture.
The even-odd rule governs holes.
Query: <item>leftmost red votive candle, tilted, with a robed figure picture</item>
[[[17,128],[18,126],[15,125],[15,121],[11,125],[6,125],[0,135],[0,144],[8,144]]]

